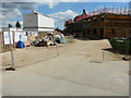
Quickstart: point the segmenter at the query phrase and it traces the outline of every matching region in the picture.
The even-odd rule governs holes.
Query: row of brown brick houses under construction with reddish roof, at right
[[[74,34],[75,37],[93,39],[127,37],[128,34],[131,35],[131,16],[110,12],[87,15],[83,10],[82,15],[75,16],[74,21],[66,23],[64,26],[66,30]]]

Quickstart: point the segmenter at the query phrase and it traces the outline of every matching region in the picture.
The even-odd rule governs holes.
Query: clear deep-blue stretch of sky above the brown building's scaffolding
[[[82,10],[85,9],[87,12],[94,9],[98,9],[103,5],[120,8],[120,5],[128,7],[128,2],[60,2],[53,7],[53,9],[49,9],[48,5],[40,5],[38,10],[40,13],[56,13],[56,12],[64,12],[67,10],[72,10],[76,13],[82,13]]]

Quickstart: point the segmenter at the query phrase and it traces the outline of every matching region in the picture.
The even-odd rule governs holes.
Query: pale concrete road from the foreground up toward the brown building
[[[3,96],[128,96],[129,62],[102,61],[105,41],[82,41],[59,48],[59,58],[2,71]]]

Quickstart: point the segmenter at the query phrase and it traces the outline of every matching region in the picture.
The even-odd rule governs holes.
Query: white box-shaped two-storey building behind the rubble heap
[[[55,20],[37,12],[23,14],[23,28],[25,32],[38,32],[39,36],[45,36],[55,30]]]

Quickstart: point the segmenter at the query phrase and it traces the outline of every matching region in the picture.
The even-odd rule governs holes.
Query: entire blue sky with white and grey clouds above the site
[[[130,0],[116,0],[117,2],[114,0],[110,0],[110,2],[108,2],[108,0],[81,0],[81,2],[79,0],[69,0],[70,2],[66,0],[58,0],[58,2],[55,2],[53,0],[48,0],[48,2],[46,2],[46,0],[32,1],[34,2],[29,2],[27,0],[23,0],[23,2],[22,0],[21,2],[17,0],[2,1],[2,5],[0,5],[0,13],[2,14],[0,16],[0,23],[2,23],[2,27],[8,27],[9,23],[14,27],[16,21],[20,21],[21,25],[23,25],[22,15],[28,13],[29,11],[36,11],[55,19],[55,27],[63,29],[64,21],[82,14],[83,9],[85,9],[86,12],[103,8],[105,5],[108,8],[114,5],[115,9],[127,7],[128,9]]]

